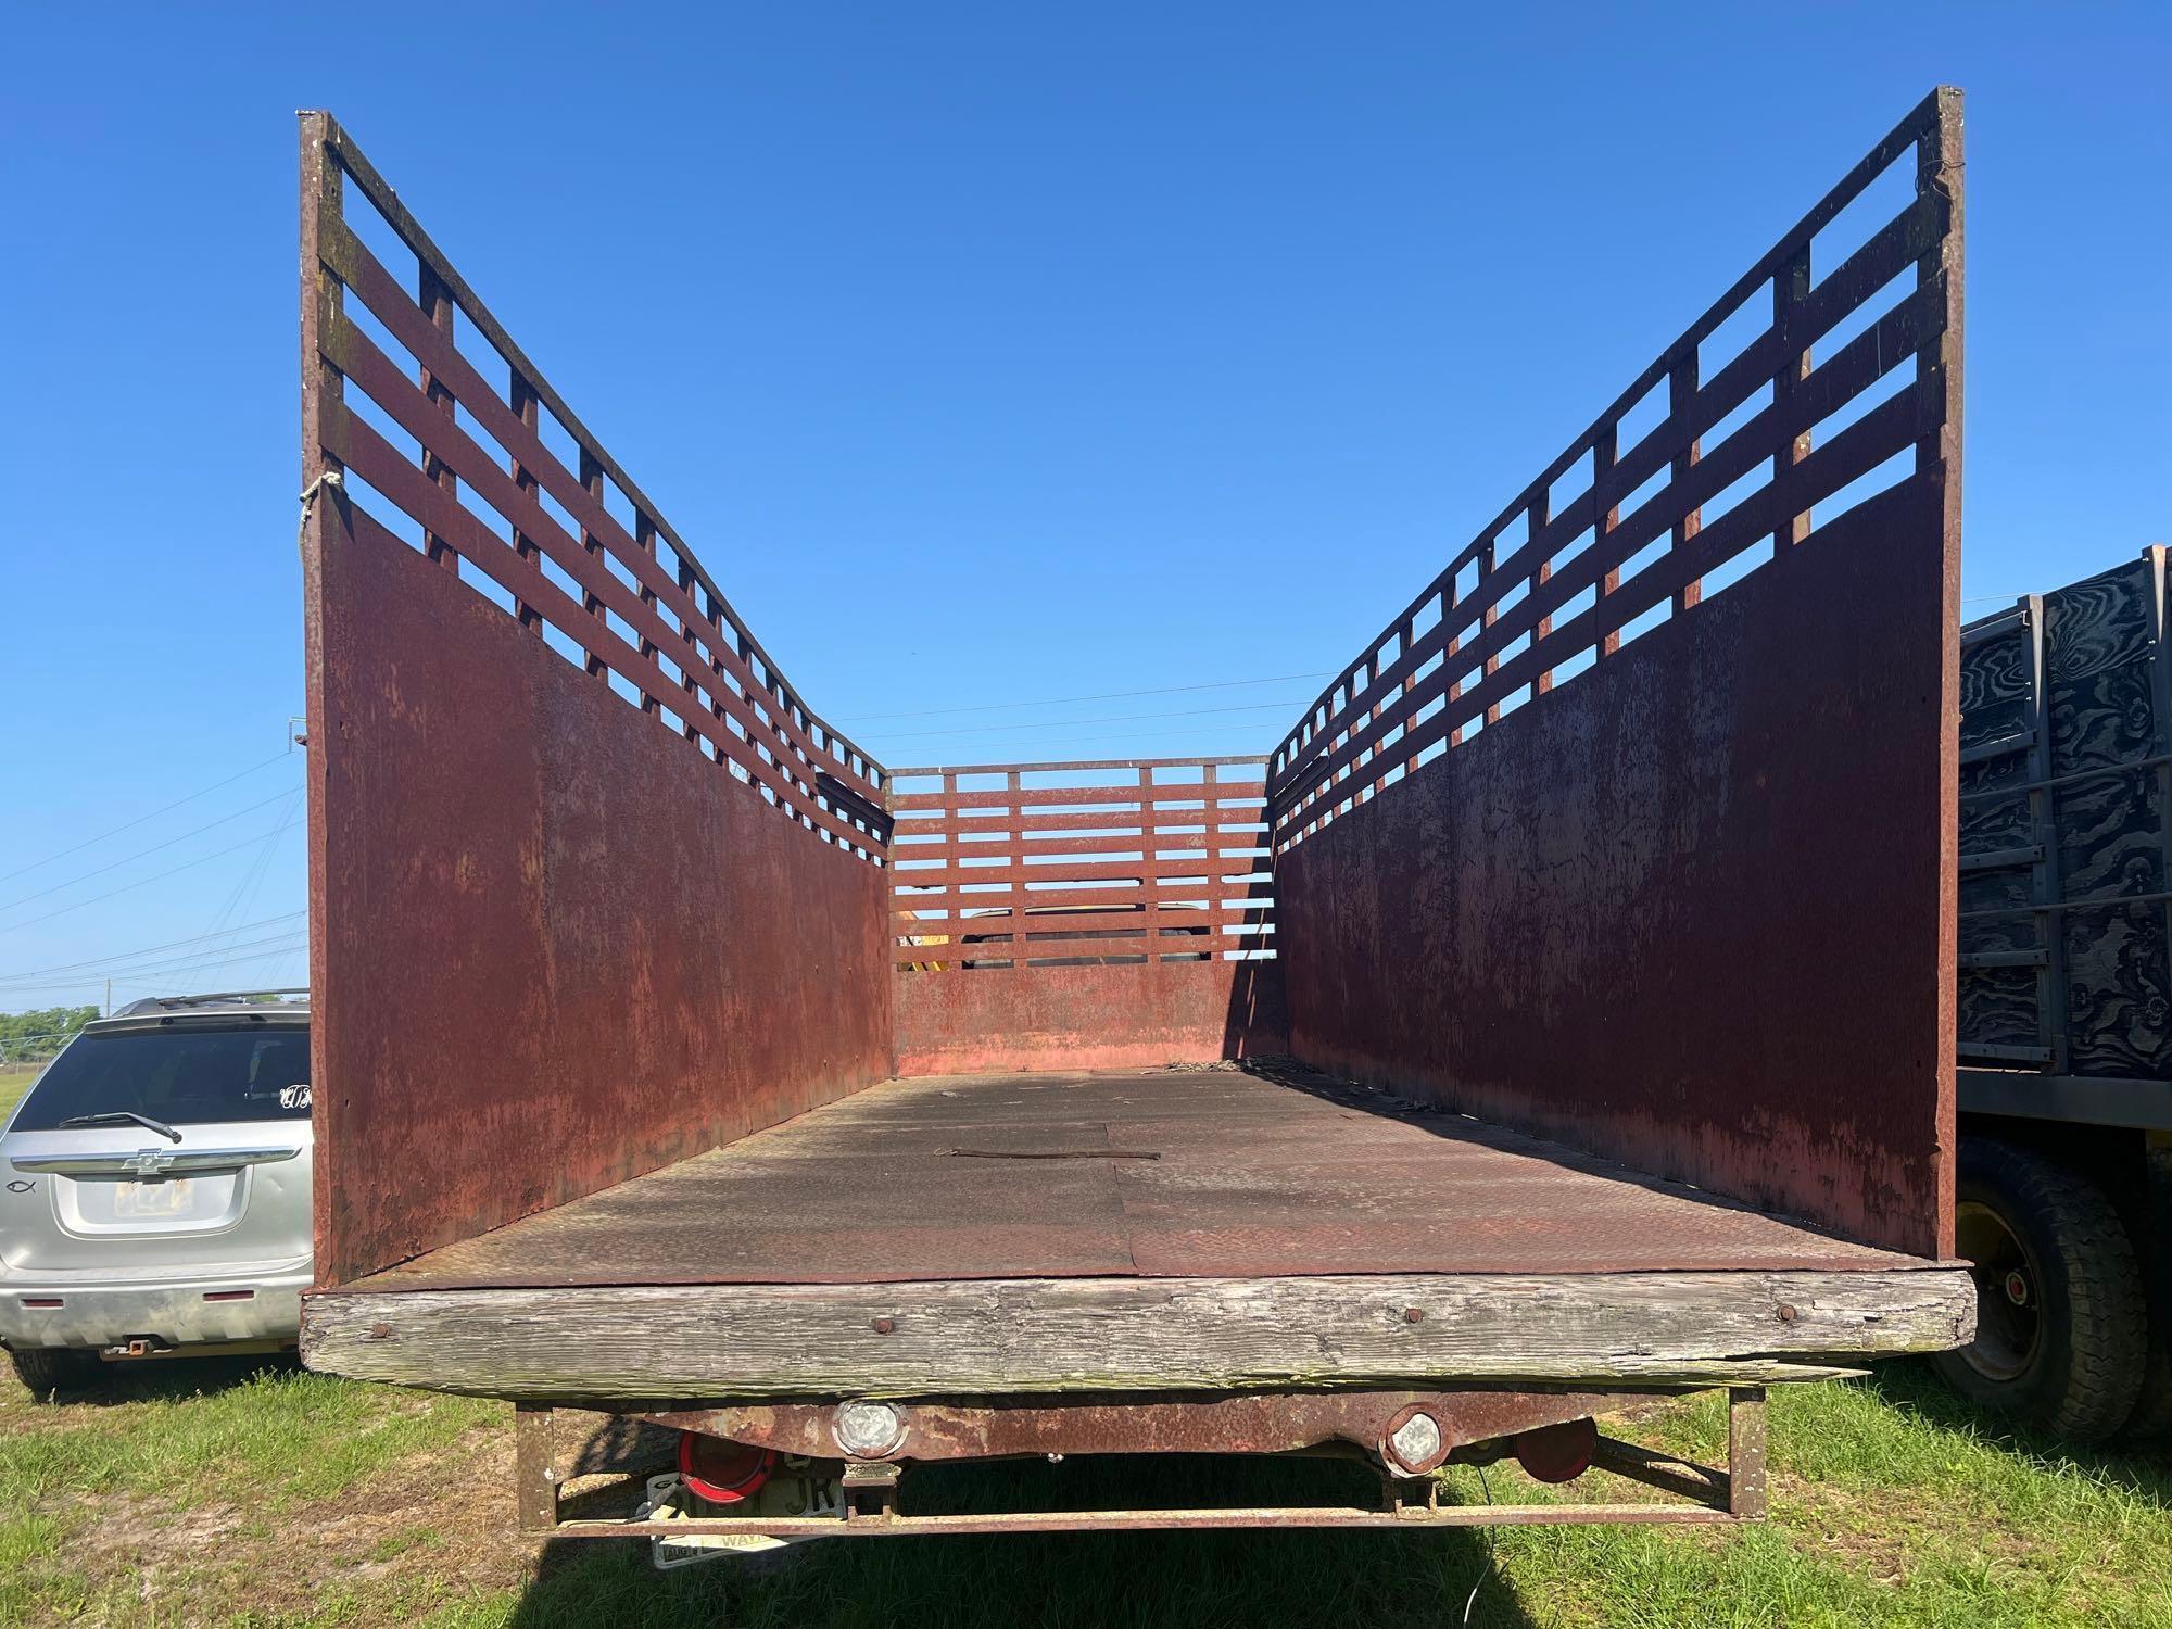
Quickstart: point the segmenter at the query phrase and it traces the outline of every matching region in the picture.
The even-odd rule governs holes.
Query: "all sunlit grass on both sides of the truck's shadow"
[[[660,1577],[634,1544],[510,1533],[508,1410],[245,1364],[59,1407],[0,1381],[0,1622],[1440,1625],[1479,1533],[1123,1533],[817,1544]],[[1720,1410],[1633,1436],[1718,1455]],[[1920,1368],[1772,1399],[1775,1518],[1740,1533],[1507,1529],[1479,1625],[2172,1625],[2172,1468],[1972,1425]],[[945,1503],[1208,1499],[1108,1464],[949,1470]],[[1331,1464],[1251,1464],[1312,1497]],[[1494,1499],[1538,1490],[1490,1473]],[[1620,1488],[1622,1483],[1612,1483]],[[1457,1499],[1483,1499],[1470,1470]]]

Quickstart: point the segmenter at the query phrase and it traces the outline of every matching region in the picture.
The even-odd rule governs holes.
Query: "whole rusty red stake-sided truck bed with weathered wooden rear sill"
[[[1761,1514],[1764,1388],[1972,1331],[1959,387],[1940,89],[1271,752],[886,769],[304,115],[306,1362],[513,1399],[560,1536]],[[1685,1390],[1725,1466],[1599,1427]],[[1112,1453],[1371,1492],[919,1477]]]

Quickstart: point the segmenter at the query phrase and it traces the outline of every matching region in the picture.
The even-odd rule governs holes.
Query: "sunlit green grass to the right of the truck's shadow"
[[[1655,1529],[1505,1533],[1518,1599],[1540,1622],[2172,1625],[2161,1460],[1987,1431],[1914,1364],[1783,1388],[1772,1431],[1766,1527],[1688,1546]],[[1722,1434],[1716,1399],[1653,1431],[1707,1462]]]

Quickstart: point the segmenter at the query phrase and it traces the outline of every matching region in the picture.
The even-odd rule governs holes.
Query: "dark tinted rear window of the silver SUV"
[[[167,1125],[306,1121],[308,1030],[87,1032],[39,1075],[17,1132],[52,1132],[78,1114],[135,1110]]]

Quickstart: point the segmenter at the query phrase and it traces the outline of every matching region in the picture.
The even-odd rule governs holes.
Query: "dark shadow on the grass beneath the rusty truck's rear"
[[[1366,1503],[1371,1473],[1321,1460],[1069,1460],[927,1466],[908,1510]],[[632,1540],[556,1540],[513,1625],[1336,1625],[1531,1629],[1477,1531],[1208,1529],[821,1540],[782,1564],[649,1566]]]

